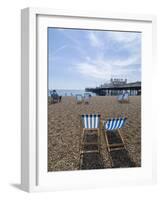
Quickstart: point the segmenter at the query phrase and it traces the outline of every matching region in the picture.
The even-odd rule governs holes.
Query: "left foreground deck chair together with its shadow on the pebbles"
[[[80,169],[104,169],[100,153],[100,114],[81,115]]]

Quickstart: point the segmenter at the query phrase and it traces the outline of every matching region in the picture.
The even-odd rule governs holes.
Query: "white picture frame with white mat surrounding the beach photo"
[[[87,23],[84,23],[84,21]],[[47,57],[43,48],[46,43],[42,42],[39,44],[39,37],[46,37],[43,30],[53,23],[59,27],[88,27],[90,29],[98,27],[99,29],[103,29],[109,21],[113,29],[142,31],[144,33],[144,44],[147,45],[145,48],[148,47],[142,52],[142,78],[144,81],[143,91],[145,91],[142,97],[142,105],[144,107],[144,112],[142,110],[142,154],[144,158],[142,167],[135,169],[92,170],[90,172],[88,170],[81,172],[52,172],[48,176],[48,172],[45,171],[45,165],[47,165],[47,143],[45,143],[47,141],[46,125],[41,126],[40,124],[43,123],[39,122],[43,121],[44,124],[47,124],[47,119],[45,120],[41,115],[42,112],[46,113],[46,108],[39,106],[40,104],[47,105],[46,96],[44,98],[45,90],[47,89],[44,84],[47,82],[47,76],[45,76],[45,62]],[[117,26],[115,22],[118,22]],[[124,28],[122,24],[125,24]],[[90,13],[42,8],[25,8],[22,10],[21,187],[23,190],[29,192],[53,191],[74,188],[107,187],[120,184],[135,185],[155,183],[155,134],[153,133],[153,137],[150,138],[150,132],[152,131],[150,122],[154,122],[154,119],[149,113],[151,111],[147,109],[151,104],[151,97],[148,95],[147,88],[151,88],[149,78],[152,75],[152,65],[153,67],[155,66],[155,29],[156,19],[152,15]],[[39,57],[41,57],[41,62]],[[44,65],[42,66],[40,63]],[[144,67],[145,65],[146,68]],[[43,92],[39,92],[40,86]]]

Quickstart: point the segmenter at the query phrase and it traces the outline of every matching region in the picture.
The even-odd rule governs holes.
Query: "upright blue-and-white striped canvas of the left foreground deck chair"
[[[84,114],[82,115],[83,128],[95,129],[100,127],[100,114]]]

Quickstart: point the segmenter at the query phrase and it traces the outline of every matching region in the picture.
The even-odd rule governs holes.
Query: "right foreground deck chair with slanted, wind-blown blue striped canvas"
[[[125,126],[126,120],[127,118],[120,117],[120,118],[111,118],[111,119],[108,119],[107,121],[103,121],[105,139],[106,139],[106,144],[109,151],[125,148],[125,143],[119,130]],[[108,137],[109,135],[115,137],[116,134],[118,134],[117,137],[119,138],[119,142],[111,144],[111,142],[109,142]]]

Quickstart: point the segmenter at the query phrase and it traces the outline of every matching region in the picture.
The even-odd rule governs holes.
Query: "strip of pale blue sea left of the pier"
[[[63,90],[63,89],[58,89],[56,90],[57,94],[59,96],[76,96],[77,94],[81,94],[82,96],[84,95],[84,93],[87,93],[85,90]],[[89,94],[91,94],[91,96],[96,96],[95,93],[93,92],[88,92]],[[50,90],[48,90],[48,96],[50,96]]]

